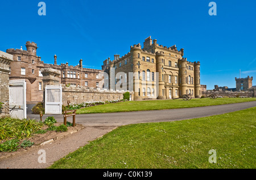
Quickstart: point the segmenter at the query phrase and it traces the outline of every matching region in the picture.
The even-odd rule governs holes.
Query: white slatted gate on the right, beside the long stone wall
[[[61,85],[46,85],[44,95],[44,113],[62,114]]]

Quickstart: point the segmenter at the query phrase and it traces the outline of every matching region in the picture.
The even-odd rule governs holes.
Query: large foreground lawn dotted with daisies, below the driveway
[[[256,107],[207,118],[125,125],[50,168],[255,169],[255,127]],[[211,149],[217,152],[215,164],[208,161]]]

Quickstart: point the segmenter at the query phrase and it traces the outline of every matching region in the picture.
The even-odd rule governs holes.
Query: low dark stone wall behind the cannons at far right
[[[241,91],[241,92],[232,92],[232,91],[207,91],[201,92],[202,95],[208,97],[210,94],[216,94],[220,97],[255,97],[255,91]]]

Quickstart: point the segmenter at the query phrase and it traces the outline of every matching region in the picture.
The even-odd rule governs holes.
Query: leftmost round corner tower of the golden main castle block
[[[133,76],[133,89],[134,89],[134,100],[141,100],[142,99],[142,85],[141,85],[141,78],[138,78],[136,74],[140,71],[141,72],[141,45],[137,44],[130,47],[132,62],[133,62],[133,73],[135,76]],[[138,75],[138,74],[137,74]]]

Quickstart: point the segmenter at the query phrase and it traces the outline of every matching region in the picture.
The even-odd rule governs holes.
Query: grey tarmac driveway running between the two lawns
[[[85,126],[120,126],[135,123],[167,122],[224,114],[227,112],[244,110],[246,108],[255,106],[256,101],[252,101],[217,106],[179,108],[171,110],[114,112],[104,114],[78,114],[76,115],[76,123],[80,123]],[[39,115],[28,116],[30,116],[30,118],[39,119]],[[46,119],[47,116],[54,116],[57,122],[63,122],[63,115],[44,115],[43,120]],[[68,121],[72,122],[72,117],[68,117]]]

